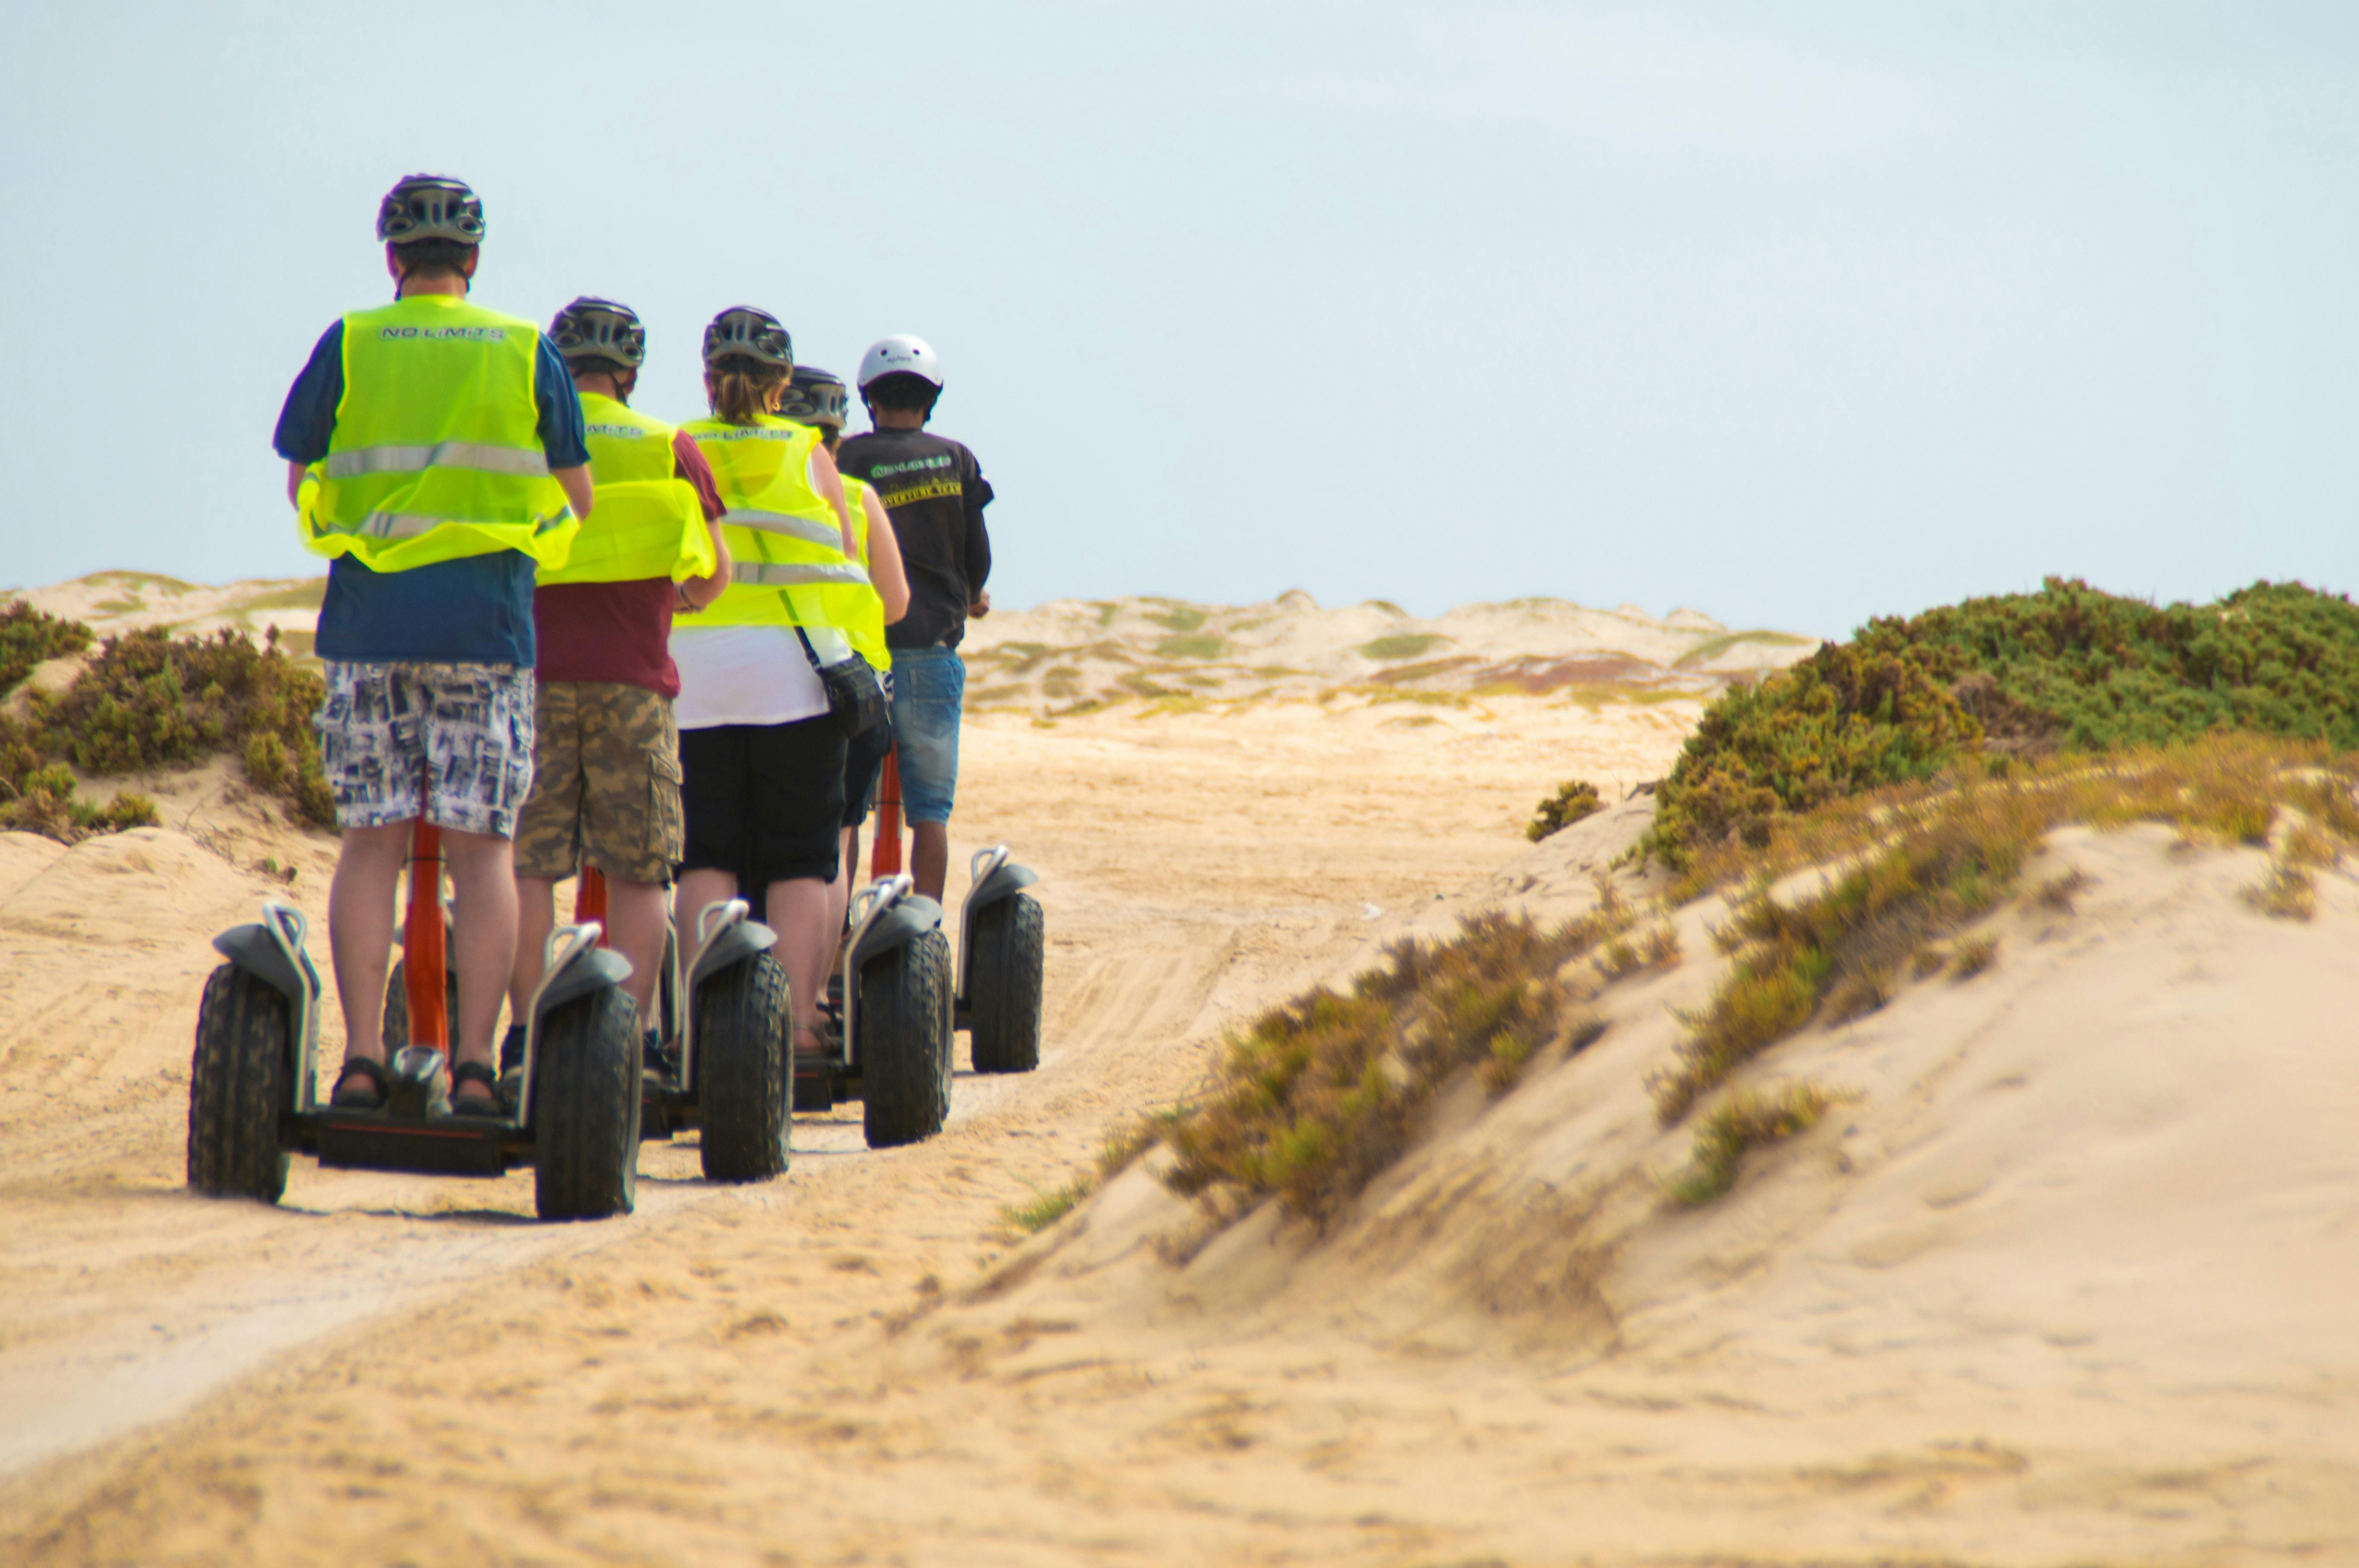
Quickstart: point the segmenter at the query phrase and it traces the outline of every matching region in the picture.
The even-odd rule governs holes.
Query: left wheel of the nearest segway
[[[288,1151],[278,1111],[293,1059],[288,1000],[236,964],[205,981],[189,1063],[189,1186],[208,1198],[278,1203]]]

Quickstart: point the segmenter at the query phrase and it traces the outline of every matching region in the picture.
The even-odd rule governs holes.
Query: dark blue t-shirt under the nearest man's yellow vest
[[[271,446],[288,462],[318,462],[344,401],[344,323],[318,335],[311,361],[288,389]],[[590,462],[583,401],[566,361],[547,337],[533,365],[540,450],[552,469]],[[314,653],[337,660],[429,665],[533,665],[533,556],[500,549],[413,566],[368,571],[351,556],[328,561],[328,597],[318,606]]]

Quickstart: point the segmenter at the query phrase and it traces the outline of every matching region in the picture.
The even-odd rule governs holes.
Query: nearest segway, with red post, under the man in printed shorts
[[[278,1203],[295,1153],[323,1167],[498,1177],[533,1167],[543,1219],[627,1214],[639,1158],[639,1014],[630,962],[599,924],[550,934],[524,1035],[519,1103],[500,1115],[451,1108],[441,832],[410,839],[403,922],[408,1040],[387,1063],[385,1106],[318,1103],[321,981],[302,910],[269,901],[257,924],[212,938],[229,962],[205,981],[189,1075],[189,1186],[210,1198]]]

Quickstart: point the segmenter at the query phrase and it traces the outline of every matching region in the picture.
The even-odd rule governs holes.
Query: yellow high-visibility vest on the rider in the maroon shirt
[[[682,582],[712,571],[712,531],[696,486],[679,479],[672,427],[597,391],[583,394],[583,420],[597,498],[573,554],[540,582]]]

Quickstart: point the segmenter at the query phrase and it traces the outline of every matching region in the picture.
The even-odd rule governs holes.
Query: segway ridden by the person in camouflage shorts
[[[604,894],[599,872],[583,870],[580,901],[604,905]],[[790,1158],[786,969],[771,953],[778,934],[750,913],[743,898],[703,908],[682,967],[675,910],[656,976],[663,1052],[642,1080],[642,1137],[698,1127],[708,1181],[769,1181]]]

